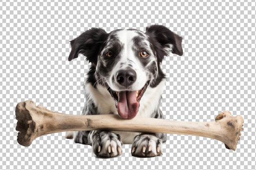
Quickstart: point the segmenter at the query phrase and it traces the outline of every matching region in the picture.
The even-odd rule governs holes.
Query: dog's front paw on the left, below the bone
[[[113,132],[97,131],[92,136],[92,150],[97,157],[116,157],[122,154],[122,141]]]

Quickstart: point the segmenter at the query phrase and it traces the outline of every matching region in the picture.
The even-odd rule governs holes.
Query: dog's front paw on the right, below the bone
[[[162,140],[154,134],[137,135],[132,144],[132,156],[156,157],[162,155]]]

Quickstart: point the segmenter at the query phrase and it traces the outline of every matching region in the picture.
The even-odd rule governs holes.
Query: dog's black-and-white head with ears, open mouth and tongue
[[[165,75],[160,68],[169,53],[182,55],[182,38],[164,26],[106,33],[92,28],[71,41],[69,61],[81,53],[92,63],[88,81],[106,86],[125,119],[137,115],[139,102],[147,87],[156,87]]]

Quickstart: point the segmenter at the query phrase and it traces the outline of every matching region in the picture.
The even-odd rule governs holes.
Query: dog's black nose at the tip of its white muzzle
[[[117,82],[122,86],[130,86],[136,81],[136,72],[132,69],[117,72]]]

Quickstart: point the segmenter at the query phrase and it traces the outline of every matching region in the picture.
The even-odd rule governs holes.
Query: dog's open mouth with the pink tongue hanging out
[[[139,111],[139,101],[145,93],[149,82],[139,91],[112,91],[109,89],[113,99],[115,99],[118,114],[124,119],[132,119]]]

